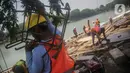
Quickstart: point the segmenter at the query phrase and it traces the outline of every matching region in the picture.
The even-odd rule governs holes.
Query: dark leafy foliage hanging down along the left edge
[[[11,39],[15,38],[18,28],[14,2],[15,0],[0,0],[0,30],[6,28]]]

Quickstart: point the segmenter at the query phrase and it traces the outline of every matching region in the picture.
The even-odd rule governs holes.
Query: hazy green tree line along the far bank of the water
[[[74,9],[71,11],[70,21],[77,21],[83,18],[87,18],[105,11],[113,10],[115,7],[115,4],[124,4],[126,7],[130,6],[129,0],[114,0],[108,4],[100,5],[99,8],[96,9],[89,9],[85,8],[82,11],[79,9]]]

